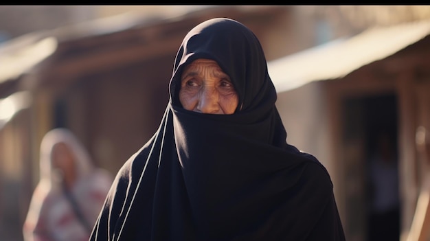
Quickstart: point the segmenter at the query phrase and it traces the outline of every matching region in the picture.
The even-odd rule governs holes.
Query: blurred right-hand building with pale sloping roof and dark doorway
[[[425,171],[416,130],[430,128],[429,58],[430,21],[423,20],[370,28],[269,63],[288,139],[328,168],[348,240],[367,240],[381,130],[396,143],[402,240],[409,232]]]

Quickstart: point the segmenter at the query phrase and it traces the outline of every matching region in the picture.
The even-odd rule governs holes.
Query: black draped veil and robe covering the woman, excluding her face
[[[181,108],[181,71],[198,58],[230,76],[234,114]],[[245,25],[194,27],[159,129],[118,172],[90,240],[345,240],[326,168],[286,143],[275,101],[264,52]]]

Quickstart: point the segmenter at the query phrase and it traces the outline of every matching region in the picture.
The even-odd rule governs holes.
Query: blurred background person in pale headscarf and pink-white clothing
[[[40,171],[23,225],[24,240],[87,241],[113,176],[96,168],[65,128],[43,137]]]

